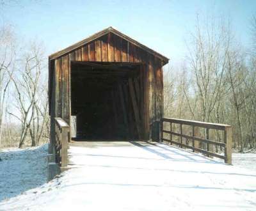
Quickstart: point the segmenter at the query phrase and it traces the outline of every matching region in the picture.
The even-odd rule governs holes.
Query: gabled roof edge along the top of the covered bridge
[[[81,47],[82,45],[85,45],[86,43],[92,42],[93,40],[96,40],[97,38],[100,38],[101,36],[107,35],[108,33],[113,33],[113,34],[115,34],[117,36],[120,36],[124,40],[127,40],[128,42],[136,45],[137,47],[140,47],[144,51],[147,51],[148,53],[153,54],[157,58],[163,60],[164,64],[168,63],[168,61],[169,61],[169,59],[166,58],[165,56],[163,56],[163,55],[159,54],[158,52],[148,48],[147,46],[137,42],[136,40],[133,40],[129,36],[124,35],[123,33],[121,33],[120,31],[118,31],[116,29],[114,29],[113,27],[108,27],[108,28],[106,28],[106,29],[104,29],[102,31],[99,31],[98,33],[95,33],[92,36],[89,36],[88,38],[86,38],[84,40],[81,40],[80,42],[75,43],[74,45],[70,45],[69,47],[67,47],[67,48],[65,48],[65,49],[63,49],[61,51],[55,52],[54,54],[51,54],[49,56],[49,59],[50,60],[56,59],[56,58],[58,58],[58,57],[60,57],[60,56],[62,56],[64,54],[67,54],[70,51],[73,51],[73,50]]]

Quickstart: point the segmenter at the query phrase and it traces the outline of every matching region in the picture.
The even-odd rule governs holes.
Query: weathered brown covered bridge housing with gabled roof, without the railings
[[[108,27],[49,56],[49,112],[80,139],[159,140],[168,58]]]

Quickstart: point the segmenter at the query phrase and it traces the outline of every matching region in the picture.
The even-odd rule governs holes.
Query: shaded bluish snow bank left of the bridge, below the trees
[[[0,201],[47,182],[47,147],[1,150]]]

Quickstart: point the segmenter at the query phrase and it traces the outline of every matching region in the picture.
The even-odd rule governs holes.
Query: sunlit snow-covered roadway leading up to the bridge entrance
[[[256,210],[250,169],[159,143],[87,143],[69,153],[72,169],[0,210]]]

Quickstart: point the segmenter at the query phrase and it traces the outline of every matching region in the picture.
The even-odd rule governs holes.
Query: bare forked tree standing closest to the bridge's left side
[[[31,145],[38,145],[46,123],[47,98],[40,88],[44,56],[40,45],[33,43],[19,61],[19,70],[10,75],[17,100],[19,114],[10,113],[21,123],[19,147],[24,145],[28,133]]]

